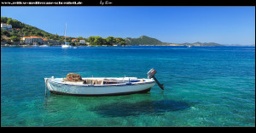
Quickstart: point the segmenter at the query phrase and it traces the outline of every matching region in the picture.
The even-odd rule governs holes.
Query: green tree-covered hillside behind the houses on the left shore
[[[44,30],[40,30],[37,27],[32,25],[26,25],[20,22],[17,19],[11,19],[7,17],[1,17],[1,23],[12,25],[12,30],[1,30],[1,42],[20,42],[20,37],[24,36],[40,36],[48,40],[63,42],[65,36],[58,36],[55,34],[51,34]],[[72,42],[72,39],[77,39],[77,42]],[[119,45],[125,45],[125,39],[121,37],[113,37],[108,36],[107,38],[102,38],[101,36],[90,36],[88,38],[84,38],[82,36],[79,37],[66,37],[66,42],[71,42],[72,45],[85,45],[79,44],[79,40],[85,40],[85,42],[89,42],[90,46],[102,46],[108,45],[113,46],[113,44],[118,43]]]

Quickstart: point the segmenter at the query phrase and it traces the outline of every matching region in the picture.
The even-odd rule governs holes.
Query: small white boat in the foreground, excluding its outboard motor
[[[44,78],[45,94],[73,96],[117,96],[150,91],[155,78],[137,79],[137,77],[90,77],[82,81],[67,81],[64,78]],[[155,80],[154,80],[155,79]]]

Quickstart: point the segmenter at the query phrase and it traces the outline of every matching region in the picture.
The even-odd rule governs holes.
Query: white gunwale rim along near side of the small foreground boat
[[[50,79],[50,78],[46,78]],[[71,84],[65,84],[65,83],[60,83],[60,82],[55,82],[52,80],[47,80],[53,84],[59,84],[59,85],[64,85],[64,86],[77,86],[77,87],[108,87],[108,86],[137,86],[137,85],[143,85],[143,84],[151,84],[154,83],[155,81],[148,81],[148,82],[131,82],[131,83],[122,83],[122,84],[108,84],[108,85],[71,85]]]

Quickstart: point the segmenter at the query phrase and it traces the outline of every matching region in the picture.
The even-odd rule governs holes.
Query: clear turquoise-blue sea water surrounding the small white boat
[[[165,90],[44,97],[44,77],[137,76]],[[2,126],[255,126],[255,47],[1,47]]]

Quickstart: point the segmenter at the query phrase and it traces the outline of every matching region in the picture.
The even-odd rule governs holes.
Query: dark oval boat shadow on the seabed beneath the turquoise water
[[[163,114],[190,108],[188,103],[174,100],[145,101],[137,103],[111,103],[91,109],[104,117],[124,117],[141,114]]]

